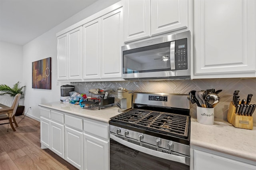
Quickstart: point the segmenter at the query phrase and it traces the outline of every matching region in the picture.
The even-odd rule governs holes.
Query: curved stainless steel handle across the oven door
[[[182,164],[186,164],[186,157],[184,157],[184,156],[166,154],[164,152],[158,152],[156,150],[151,150],[151,149],[148,149],[148,148],[144,148],[142,146],[139,146],[139,145],[127,142],[125,140],[122,140],[122,139],[116,137],[114,134],[111,134],[111,133],[110,133],[110,138],[112,138],[113,140],[116,140],[116,142],[118,142],[120,144],[123,144],[124,146],[127,146],[129,148],[138,150],[140,152],[150,154],[152,156],[156,156],[156,157],[159,157],[159,158],[164,158],[164,159],[167,159],[167,160],[172,160],[172,161],[175,161],[175,162],[180,162]]]

